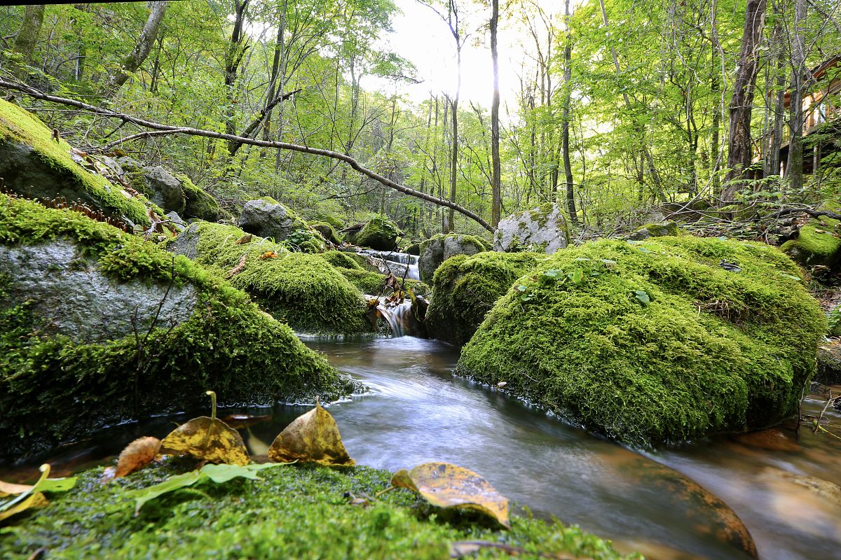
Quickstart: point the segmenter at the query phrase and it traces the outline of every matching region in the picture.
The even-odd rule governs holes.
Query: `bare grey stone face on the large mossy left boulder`
[[[172,285],[167,293],[166,285],[112,280],[66,239],[24,247],[0,245],[0,275],[9,280],[0,306],[29,301],[29,309],[48,329],[79,343],[122,338],[135,327],[145,333],[155,321],[159,327],[186,321],[197,301],[188,284]]]

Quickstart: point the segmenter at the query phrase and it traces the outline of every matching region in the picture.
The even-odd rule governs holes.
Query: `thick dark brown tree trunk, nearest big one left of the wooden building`
[[[759,40],[765,24],[765,0],[748,0],[744,16],[742,50],[739,52],[736,82],[730,99],[730,134],[727,144],[728,183],[722,191],[722,202],[738,191],[738,180],[750,166],[750,114],[754,105],[754,91],[759,52]]]

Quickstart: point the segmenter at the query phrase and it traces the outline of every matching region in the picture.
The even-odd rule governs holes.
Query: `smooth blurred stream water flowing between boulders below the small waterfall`
[[[404,337],[307,345],[371,388],[330,406],[357,463],[392,471],[458,463],[537,516],[576,523],[653,558],[748,557],[744,528],[727,505],[764,559],[837,557],[841,547],[841,441],[808,431],[795,440],[784,427],[770,440],[722,438],[645,455],[455,377],[458,351],[442,343]],[[278,406],[270,421],[243,428],[251,452],[263,453],[307,410]],[[173,420],[188,417],[112,428],[61,459],[79,468],[119,453],[133,437],[163,436]]]

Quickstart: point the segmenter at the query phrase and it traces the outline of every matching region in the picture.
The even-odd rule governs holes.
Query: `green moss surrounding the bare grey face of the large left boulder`
[[[0,196],[0,243],[55,238],[74,240],[115,280],[166,285],[174,266],[176,281],[193,285],[198,303],[193,317],[172,330],[151,331],[140,350],[133,336],[71,343],[50,334],[25,303],[0,311],[0,432],[9,437],[3,454],[21,458],[114,422],[204,407],[205,390],[223,403],[268,404],[353,389],[289,327],[189,259],[173,260],[153,243],[80,213]]]

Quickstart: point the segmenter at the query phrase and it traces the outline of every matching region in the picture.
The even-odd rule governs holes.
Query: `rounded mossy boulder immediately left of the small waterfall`
[[[294,253],[283,243],[257,236],[236,243],[245,236],[234,226],[194,222],[169,249],[230,275],[232,285],[246,290],[263,309],[298,331],[371,330],[362,294],[320,255]]]

